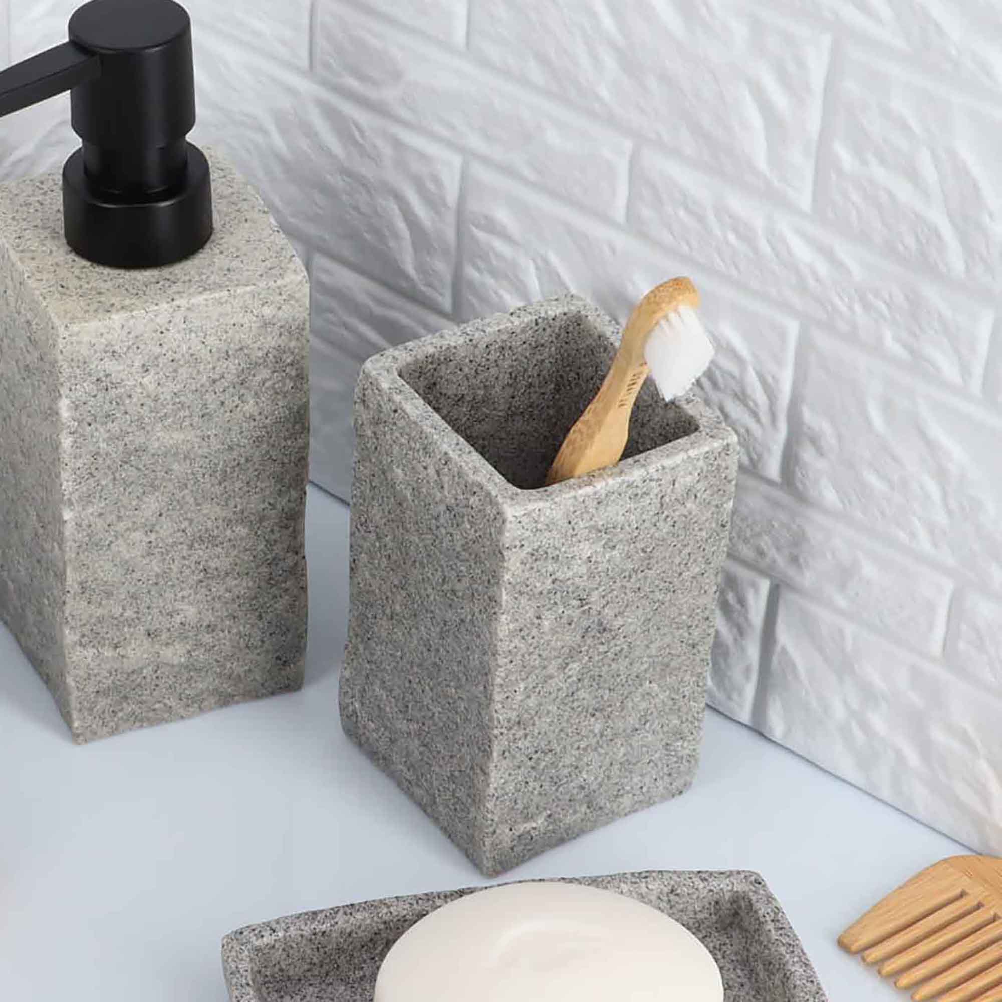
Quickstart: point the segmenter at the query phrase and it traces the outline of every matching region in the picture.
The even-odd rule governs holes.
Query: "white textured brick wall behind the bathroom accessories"
[[[71,0],[0,0],[0,57]],[[675,273],[741,440],[715,704],[1002,852],[1002,7],[188,0],[195,138],[313,279],[314,477],[393,342]],[[0,122],[0,177],[73,146]]]

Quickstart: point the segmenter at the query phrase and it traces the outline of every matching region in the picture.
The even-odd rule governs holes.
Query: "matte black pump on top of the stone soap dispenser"
[[[83,140],[63,166],[66,242],[101,265],[167,265],[212,232],[194,125],[191,22],[174,0],[91,0],[69,41],[0,71],[0,115],[64,90]]]

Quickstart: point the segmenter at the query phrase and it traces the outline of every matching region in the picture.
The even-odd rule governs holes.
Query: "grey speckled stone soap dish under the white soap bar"
[[[755,873],[649,871],[576,883],[629,895],[697,936],[723,976],[725,1002],[826,1002],[779,902]],[[469,894],[442,891],[304,912],[230,933],[231,1002],[372,1002],[390,947],[419,919]]]

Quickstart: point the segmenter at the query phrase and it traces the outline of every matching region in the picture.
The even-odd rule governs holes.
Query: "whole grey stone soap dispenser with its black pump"
[[[0,617],[86,741],[302,684],[309,288],[185,138],[183,7],[69,37],[0,72],[0,114],[69,89],[82,139],[0,186]]]

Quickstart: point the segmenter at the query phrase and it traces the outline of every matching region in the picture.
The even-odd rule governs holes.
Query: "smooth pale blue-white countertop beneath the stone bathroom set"
[[[487,883],[341,732],[347,529],[347,509],[311,488],[307,683],[291,695],[78,747],[0,627],[0,998],[225,1002],[229,930]],[[836,936],[963,851],[711,712],[689,793],[501,880],[758,870],[832,1002],[891,1002],[907,995]]]

